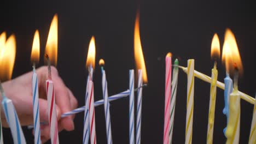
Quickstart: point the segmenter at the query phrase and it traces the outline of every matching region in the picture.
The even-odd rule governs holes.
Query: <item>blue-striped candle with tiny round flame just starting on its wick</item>
[[[112,143],[112,134],[111,134],[111,121],[110,121],[110,110],[109,110],[109,101],[108,101],[108,82],[106,78],[105,70],[103,69],[103,65],[105,64],[103,59],[100,59],[101,72],[102,72],[102,93],[104,99],[104,113],[105,113],[105,121],[106,121],[106,133],[107,133],[107,143]]]

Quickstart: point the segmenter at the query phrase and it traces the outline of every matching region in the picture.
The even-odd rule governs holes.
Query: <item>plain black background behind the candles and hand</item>
[[[33,34],[39,29],[42,49],[40,65],[50,22],[59,15],[59,57],[57,69],[66,85],[84,105],[85,68],[88,45],[96,38],[96,63],[106,62],[109,95],[129,87],[129,69],[135,68],[133,57],[133,28],[136,9],[140,5],[141,41],[146,61],[149,86],[143,89],[142,143],[161,143],[164,129],[165,55],[173,53],[180,64],[195,59],[195,69],[211,75],[211,39],[215,32],[223,44],[225,28],[234,32],[244,66],[239,89],[254,97],[256,8],[253,1],[1,1],[0,32],[14,33],[17,40],[13,77],[31,70],[30,53]],[[173,59],[174,61],[174,59]],[[218,80],[223,81],[225,70],[218,63]],[[95,74],[95,100],[102,99],[101,73]],[[193,143],[206,143],[210,84],[195,79]],[[187,76],[180,71],[173,143],[184,143]],[[129,99],[111,103],[112,135],[114,143],[129,142]],[[224,143],[226,125],[222,113],[223,91],[217,90],[214,143]],[[247,143],[251,128],[253,105],[241,100],[240,142]],[[82,143],[83,113],[75,119],[75,130],[63,131],[60,143]],[[28,143],[33,143],[31,130],[26,130]],[[96,107],[97,142],[106,143],[103,106]],[[4,130],[4,142],[11,143],[9,130]]]

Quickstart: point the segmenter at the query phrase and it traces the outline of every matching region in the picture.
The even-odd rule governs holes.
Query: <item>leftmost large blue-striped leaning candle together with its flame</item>
[[[3,55],[1,55],[1,79],[9,80],[13,73],[13,66],[16,53],[15,36],[11,35],[5,43],[4,49],[2,49]],[[13,105],[13,101],[8,99],[3,91],[3,87],[0,82],[0,91],[2,94],[2,106],[4,110],[5,119],[9,124],[11,135],[15,144],[26,143],[23,131],[21,129],[20,121]]]

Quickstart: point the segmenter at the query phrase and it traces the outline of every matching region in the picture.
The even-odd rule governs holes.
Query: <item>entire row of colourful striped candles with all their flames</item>
[[[32,76],[32,94],[33,94],[33,113],[34,113],[34,143],[41,143],[40,141],[40,121],[39,121],[39,104],[38,104],[38,79],[36,74],[36,63],[39,61],[39,32],[34,34],[34,40],[32,45],[31,61],[33,63],[33,76]],[[6,40],[6,34],[0,35],[0,67],[1,78],[10,79],[13,71],[15,61],[15,36],[11,35]],[[141,116],[142,116],[142,87],[146,86],[147,73],[146,65],[144,63],[144,57],[141,47],[141,40],[139,36],[139,14],[136,15],[135,21],[135,34],[134,34],[134,51],[136,69],[138,74],[138,85],[135,89],[134,70],[130,70],[129,75],[129,89],[127,91],[112,95],[108,97],[107,78],[106,71],[103,68],[104,61],[101,59],[101,71],[102,71],[102,93],[103,99],[94,101],[94,83],[93,83],[93,71],[95,67],[95,38],[92,37],[88,57],[86,61],[86,67],[88,68],[88,80],[86,83],[85,93],[85,106],[72,110],[67,113],[62,113],[62,118],[74,115],[78,112],[84,112],[84,131],[83,131],[83,143],[96,143],[96,124],[95,124],[95,110],[94,107],[98,105],[104,105],[104,115],[106,120],[106,134],[107,143],[113,143],[111,133],[110,122],[110,110],[109,102],[112,100],[120,99],[129,96],[129,140],[130,143],[141,142]],[[46,42],[45,57],[48,60],[48,80],[46,80],[46,93],[48,100],[48,114],[50,125],[50,137],[51,143],[59,143],[59,135],[57,131],[57,118],[56,118],[56,104],[54,93],[54,82],[51,80],[51,64],[56,65],[57,62],[57,15],[54,16],[51,22],[48,40]],[[200,73],[194,70],[194,59],[188,60],[188,67],[182,67],[179,65],[178,59],[175,60],[172,72],[172,58],[171,53],[167,53],[166,56],[166,81],[165,81],[165,113],[164,113],[164,143],[172,142],[173,125],[174,125],[174,111],[177,94],[178,83],[178,69],[182,69],[188,75],[187,83],[187,118],[185,127],[185,143],[192,142],[193,132],[193,113],[194,113],[194,77],[211,83],[210,88],[210,106],[208,113],[208,129],[207,129],[207,143],[213,142],[213,128],[214,128],[214,113],[216,105],[216,89],[217,87],[224,89],[225,107],[223,113],[227,117],[227,128],[224,129],[224,134],[227,137],[226,143],[238,143],[240,132],[240,98],[248,101],[251,104],[255,103],[255,99],[249,95],[238,91],[237,81],[238,73],[242,73],[242,63],[238,52],[235,36],[230,31],[226,30],[225,40],[223,45],[222,60],[226,66],[226,78],[224,83],[217,81],[218,70],[216,60],[220,57],[220,43],[217,34],[214,34],[212,40],[212,58],[214,59],[214,67],[212,69],[212,77]],[[2,70],[3,69],[3,70]],[[234,76],[234,88],[233,82],[230,78],[230,74]],[[144,83],[144,85],[143,85]],[[0,83],[1,84],[1,83]],[[1,86],[1,85],[0,85]],[[11,129],[14,143],[26,143],[24,134],[22,132],[19,118],[16,113],[15,107],[8,99],[1,86],[2,94],[2,106],[5,113],[5,118]],[[135,91],[137,91],[137,109],[135,110]],[[256,142],[256,112],[254,106],[253,121],[251,134],[249,137],[249,143]],[[135,122],[135,111],[137,121]],[[2,137],[2,125],[0,142],[3,143]]]

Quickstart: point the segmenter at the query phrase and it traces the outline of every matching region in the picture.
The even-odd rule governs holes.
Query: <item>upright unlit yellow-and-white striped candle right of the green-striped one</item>
[[[188,60],[187,116],[185,143],[192,143],[194,113],[194,59]]]

